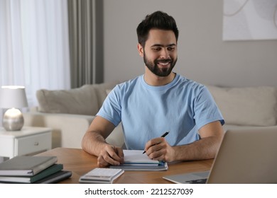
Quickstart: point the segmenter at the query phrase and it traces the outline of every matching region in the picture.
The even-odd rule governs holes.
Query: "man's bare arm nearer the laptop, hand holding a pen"
[[[159,161],[192,161],[214,158],[223,136],[219,121],[206,124],[199,130],[201,139],[191,144],[170,146],[165,138],[151,139],[146,144],[149,158]]]

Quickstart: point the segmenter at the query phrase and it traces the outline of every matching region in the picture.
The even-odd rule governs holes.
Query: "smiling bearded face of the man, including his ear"
[[[156,76],[168,76],[178,59],[177,42],[171,30],[150,30],[141,50],[144,63]]]

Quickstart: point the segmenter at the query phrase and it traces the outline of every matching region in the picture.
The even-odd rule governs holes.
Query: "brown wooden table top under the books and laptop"
[[[81,175],[93,168],[97,168],[97,157],[89,155],[80,148],[54,148],[40,153],[38,156],[57,156],[58,163],[63,163],[63,169],[72,171],[72,177],[60,182],[64,184],[77,184]],[[211,159],[168,163],[168,170],[166,171],[125,171],[114,183],[168,184],[171,182],[163,179],[163,176],[210,170],[212,162],[213,160]]]

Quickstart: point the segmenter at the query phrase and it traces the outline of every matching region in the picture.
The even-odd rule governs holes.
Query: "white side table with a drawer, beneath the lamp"
[[[0,156],[13,158],[52,147],[52,129],[45,127],[23,127],[21,131],[7,132],[0,127]]]

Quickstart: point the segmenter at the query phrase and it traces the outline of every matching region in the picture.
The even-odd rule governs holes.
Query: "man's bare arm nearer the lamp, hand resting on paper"
[[[105,139],[114,129],[114,124],[103,117],[95,117],[82,139],[82,148],[87,153],[97,156],[99,167],[119,165],[123,162],[123,151],[108,144]]]

